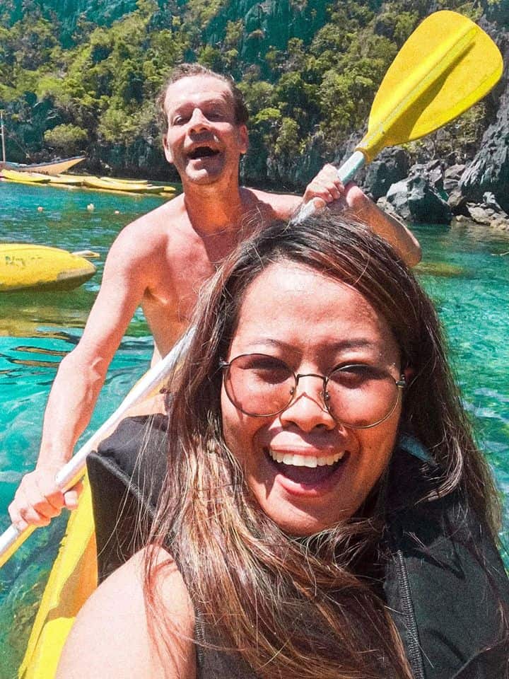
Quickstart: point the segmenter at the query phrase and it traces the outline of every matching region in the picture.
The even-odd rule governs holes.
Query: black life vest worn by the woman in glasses
[[[146,542],[166,474],[163,415],[124,420],[88,459],[100,579]],[[509,675],[509,581],[488,531],[452,493],[409,499],[423,463],[395,453],[387,485],[384,594],[415,679]],[[419,496],[422,497],[422,496]],[[144,530],[146,528],[146,530]],[[197,642],[216,641],[197,610]],[[197,679],[254,679],[238,654],[197,646]]]

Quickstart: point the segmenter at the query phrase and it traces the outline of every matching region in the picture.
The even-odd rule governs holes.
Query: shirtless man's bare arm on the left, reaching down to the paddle
[[[129,227],[128,227],[129,229]],[[127,230],[126,230],[127,231]],[[129,233],[122,232],[105,263],[103,282],[83,337],[62,360],[45,411],[39,458],[9,506],[19,530],[46,526],[63,506],[74,509],[80,487],[62,494],[54,477],[74,450],[90,417],[122,336],[146,289],[144,268]]]

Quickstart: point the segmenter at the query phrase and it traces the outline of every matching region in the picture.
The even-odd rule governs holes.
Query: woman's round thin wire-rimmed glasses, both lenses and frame
[[[268,354],[240,354],[219,361],[230,402],[250,417],[271,417],[291,405],[303,378],[322,380],[324,409],[337,424],[368,429],[385,422],[396,410],[406,386],[403,374],[395,379],[386,368],[349,364],[327,375],[295,373],[281,359]]]

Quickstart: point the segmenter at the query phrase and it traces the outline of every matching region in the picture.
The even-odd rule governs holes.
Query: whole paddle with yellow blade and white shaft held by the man
[[[442,127],[486,95],[502,74],[502,57],[493,40],[479,26],[455,12],[428,16],[406,40],[380,85],[370,112],[368,132],[355,153],[338,170],[347,182],[386,146],[419,139]],[[312,214],[308,203],[298,219]],[[160,388],[175,367],[187,340],[154,366],[129,393],[119,409],[100,427],[57,475],[62,490],[83,476],[86,456],[127,411]],[[0,567],[33,532],[10,526],[0,535]]]

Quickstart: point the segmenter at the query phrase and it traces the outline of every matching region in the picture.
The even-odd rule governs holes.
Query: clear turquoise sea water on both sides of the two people
[[[86,209],[90,202],[94,211]],[[6,509],[21,475],[35,463],[57,364],[81,337],[107,250],[125,224],[159,204],[156,197],[0,182],[0,242],[90,249],[101,255],[98,273],[75,291],[0,296],[0,530],[8,526]],[[501,492],[509,497],[509,233],[438,226],[420,226],[415,232],[424,253],[419,277],[447,328],[481,447]],[[136,313],[82,442],[119,405],[146,370],[150,355],[148,328]],[[1,679],[16,676],[64,521],[38,530],[0,571]],[[506,509],[503,539],[508,535]]]

